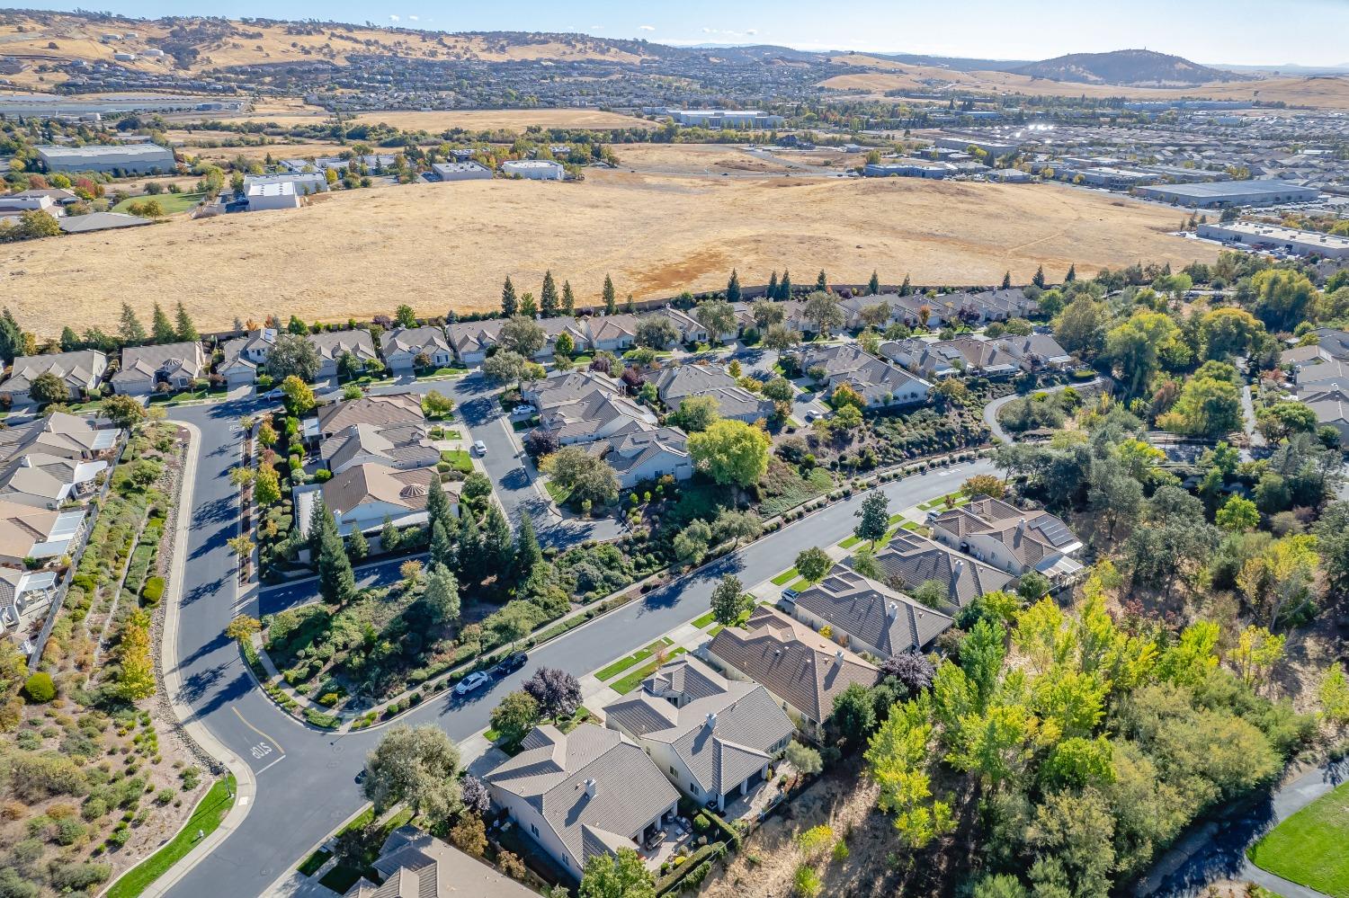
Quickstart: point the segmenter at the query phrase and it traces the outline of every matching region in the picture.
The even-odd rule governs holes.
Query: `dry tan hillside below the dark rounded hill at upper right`
[[[987,93],[1040,94],[1050,97],[1129,97],[1132,100],[1175,100],[1205,97],[1211,100],[1283,101],[1290,105],[1349,109],[1349,77],[1271,77],[1252,81],[1219,81],[1194,88],[1121,88],[1101,84],[1047,81],[1008,71],[954,71],[934,66],[901,65],[889,59],[851,55],[840,58],[850,65],[877,69],[842,74],[820,82],[823,88],[873,96],[888,90],[932,90],[959,85]]]

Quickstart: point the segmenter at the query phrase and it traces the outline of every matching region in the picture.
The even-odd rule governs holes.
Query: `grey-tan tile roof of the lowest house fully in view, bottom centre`
[[[536,727],[484,781],[527,801],[583,866],[615,845],[634,848],[633,836],[679,801],[646,752],[594,724]]]

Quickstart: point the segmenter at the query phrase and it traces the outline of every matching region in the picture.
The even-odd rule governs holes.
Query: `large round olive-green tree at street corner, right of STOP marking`
[[[398,804],[432,824],[448,822],[463,806],[459,746],[434,724],[398,725],[366,755],[360,787],[383,813]]]

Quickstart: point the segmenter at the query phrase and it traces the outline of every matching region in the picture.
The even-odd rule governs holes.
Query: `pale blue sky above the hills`
[[[82,4],[26,0],[22,5],[69,9]],[[92,5],[146,18],[186,11],[182,0]],[[997,59],[1148,47],[1209,63],[1349,65],[1349,0],[197,0],[192,12]]]

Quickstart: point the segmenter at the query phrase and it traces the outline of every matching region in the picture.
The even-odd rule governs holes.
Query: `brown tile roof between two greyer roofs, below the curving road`
[[[834,698],[850,685],[880,678],[874,665],[768,605],[755,608],[743,628],[723,627],[708,651],[815,723],[828,719]]]

